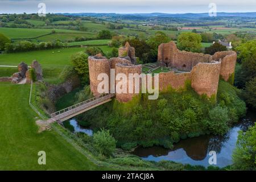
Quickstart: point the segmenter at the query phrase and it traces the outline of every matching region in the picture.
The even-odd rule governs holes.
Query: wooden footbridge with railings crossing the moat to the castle
[[[69,106],[63,110],[59,110],[55,113],[51,114],[51,118],[47,120],[47,123],[52,122],[64,122],[67,119],[73,118],[76,115],[79,115],[81,113],[84,113],[87,110],[93,109],[94,107],[97,107],[99,105],[105,104],[106,102],[111,101],[112,97],[114,97],[115,94],[101,94],[100,96],[96,96],[93,98],[90,98],[89,100],[80,102],[79,104]]]

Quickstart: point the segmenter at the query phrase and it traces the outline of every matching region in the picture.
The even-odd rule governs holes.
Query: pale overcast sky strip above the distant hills
[[[37,13],[38,3],[47,13],[208,13],[255,12],[256,0],[0,0],[0,13]]]

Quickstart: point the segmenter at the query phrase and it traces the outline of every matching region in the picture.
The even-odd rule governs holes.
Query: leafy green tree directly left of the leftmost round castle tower
[[[84,52],[72,55],[71,61],[77,74],[80,76],[82,84],[89,83],[88,56]]]

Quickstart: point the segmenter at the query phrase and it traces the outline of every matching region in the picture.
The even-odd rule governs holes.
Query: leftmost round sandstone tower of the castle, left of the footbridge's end
[[[100,93],[97,91],[98,84],[101,81],[98,81],[98,75],[100,73],[106,73],[109,76],[110,83],[110,63],[106,57],[101,55],[89,56],[88,57],[89,65],[89,77],[90,77],[90,90],[93,93],[93,96],[98,96]]]

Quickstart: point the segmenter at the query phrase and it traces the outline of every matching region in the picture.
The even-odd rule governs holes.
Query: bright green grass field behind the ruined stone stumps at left
[[[104,53],[112,51],[112,47],[98,46]],[[60,52],[58,52],[60,51]],[[85,51],[85,48],[63,48],[49,49],[42,51],[5,53],[0,55],[0,65],[18,65],[20,62],[30,65],[32,60],[38,60],[43,68],[44,80],[52,84],[57,84],[60,81],[60,74],[64,68],[71,65],[71,56],[80,51]],[[18,72],[18,68],[0,67],[0,77],[11,76]]]

